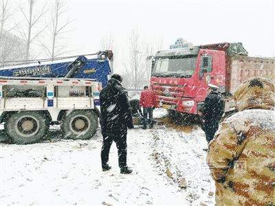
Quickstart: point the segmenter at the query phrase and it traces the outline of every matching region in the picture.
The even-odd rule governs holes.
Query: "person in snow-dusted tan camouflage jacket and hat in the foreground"
[[[238,113],[209,144],[216,205],[275,205],[275,83],[250,78],[234,93]]]

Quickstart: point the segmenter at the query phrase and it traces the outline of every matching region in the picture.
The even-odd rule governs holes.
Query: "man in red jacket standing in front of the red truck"
[[[153,110],[156,106],[155,95],[153,91],[144,86],[144,91],[140,95],[140,107],[143,107],[143,129],[147,126],[147,115],[149,115],[149,128],[153,128]]]

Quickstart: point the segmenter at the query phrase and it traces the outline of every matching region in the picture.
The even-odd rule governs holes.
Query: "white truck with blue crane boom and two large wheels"
[[[65,138],[91,138],[98,128],[99,92],[107,85],[112,61],[113,53],[104,51],[0,68],[4,133],[17,144],[30,144],[47,134],[50,124],[61,124]]]

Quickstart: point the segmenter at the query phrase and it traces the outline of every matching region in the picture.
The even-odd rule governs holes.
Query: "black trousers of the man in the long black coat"
[[[106,167],[109,162],[109,152],[111,144],[115,141],[118,148],[118,165],[120,168],[126,167],[127,159],[127,130],[114,131],[113,133],[102,133],[103,142],[101,148],[101,164],[102,168]]]

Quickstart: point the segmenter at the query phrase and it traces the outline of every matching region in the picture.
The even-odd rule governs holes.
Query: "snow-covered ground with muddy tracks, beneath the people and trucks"
[[[155,110],[155,117],[164,114]],[[127,144],[133,168],[128,175],[120,174],[115,144],[112,168],[102,172],[100,130],[85,141],[2,143],[0,205],[214,205],[214,183],[202,150],[206,140],[199,127],[135,126]]]

